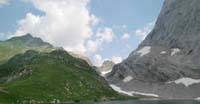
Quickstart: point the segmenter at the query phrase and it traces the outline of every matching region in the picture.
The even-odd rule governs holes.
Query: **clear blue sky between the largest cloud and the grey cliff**
[[[134,36],[134,31],[154,22],[162,3],[163,0],[93,0],[91,11],[104,20],[103,25],[109,27],[126,25],[126,29],[113,28],[113,30],[118,37],[124,32],[131,35],[127,41],[116,40],[106,45],[100,54],[104,57],[109,57],[110,54],[126,57],[141,42],[140,37]],[[129,44],[131,49],[124,48],[125,44]],[[113,47],[115,45],[117,46]]]

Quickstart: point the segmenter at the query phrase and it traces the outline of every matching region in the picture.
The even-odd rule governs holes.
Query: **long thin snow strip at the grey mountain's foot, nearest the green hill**
[[[129,96],[133,96],[133,95],[135,94],[135,95],[142,95],[142,96],[159,97],[159,96],[156,95],[156,94],[150,94],[150,93],[141,93],[141,92],[135,92],[135,91],[127,92],[127,91],[121,90],[120,87],[118,87],[118,86],[116,86],[116,85],[113,85],[113,84],[111,84],[110,87],[112,87],[113,90],[115,90],[115,91],[117,91],[117,92],[119,92],[119,93],[126,94],[126,95],[129,95]]]

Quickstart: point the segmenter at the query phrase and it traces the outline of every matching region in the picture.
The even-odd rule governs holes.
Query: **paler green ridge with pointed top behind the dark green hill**
[[[30,49],[40,52],[50,52],[54,50],[54,47],[40,38],[32,37],[31,34],[0,41],[0,64],[6,62],[14,55],[24,53]]]

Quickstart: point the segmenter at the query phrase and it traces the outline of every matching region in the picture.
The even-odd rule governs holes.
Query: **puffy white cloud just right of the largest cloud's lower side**
[[[87,42],[87,50],[89,52],[96,52],[104,43],[112,42],[114,38],[114,33],[111,28],[99,28],[96,33],[95,40],[89,40]]]

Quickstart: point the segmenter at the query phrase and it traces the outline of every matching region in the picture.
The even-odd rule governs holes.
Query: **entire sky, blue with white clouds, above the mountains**
[[[94,65],[127,58],[153,29],[163,0],[0,0],[0,40],[31,33]]]

